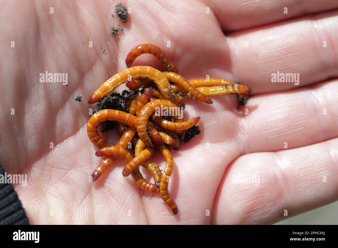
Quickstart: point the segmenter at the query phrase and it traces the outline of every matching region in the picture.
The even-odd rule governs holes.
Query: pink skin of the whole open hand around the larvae
[[[30,223],[270,224],[338,200],[338,2],[316,2],[122,1],[132,10],[122,24],[112,18],[115,1],[2,1],[0,163],[27,174],[27,186],[15,189]],[[113,38],[119,24],[124,31]],[[187,80],[208,74],[254,91],[244,107],[235,95],[185,101],[184,117],[201,116],[201,134],[172,151],[176,216],[123,178],[121,160],[88,182],[102,158],[86,134],[96,107],[87,100],[104,75],[126,68],[132,47],[148,42]],[[133,65],[165,69],[151,55]],[[68,86],[40,83],[45,71],[68,73]],[[299,73],[299,85],[272,83],[277,71]],[[117,133],[104,137],[113,144]],[[236,183],[238,174],[258,174],[259,186]]]

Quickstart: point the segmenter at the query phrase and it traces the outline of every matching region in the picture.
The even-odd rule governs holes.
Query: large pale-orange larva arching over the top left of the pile
[[[103,97],[109,94],[112,90],[116,89],[123,83],[126,83],[128,79],[135,78],[148,78],[158,86],[163,97],[176,105],[180,104],[180,100],[171,89],[169,81],[163,76],[163,74],[150,66],[135,66],[130,67],[122,72],[115,74],[113,77],[104,82],[89,98],[89,103],[95,103],[100,101]]]

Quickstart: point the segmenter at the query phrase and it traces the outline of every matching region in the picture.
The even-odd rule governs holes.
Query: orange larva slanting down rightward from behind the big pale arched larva
[[[192,86],[184,77],[178,75],[174,72],[162,72],[162,74],[171,82],[178,84],[182,87],[183,90],[189,92],[192,95],[193,99],[199,100],[205,103],[212,103],[211,99],[198,91],[194,86]]]

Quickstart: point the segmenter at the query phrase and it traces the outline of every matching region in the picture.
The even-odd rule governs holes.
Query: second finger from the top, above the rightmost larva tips
[[[228,43],[234,75],[254,93],[336,78],[337,15],[338,10],[267,26],[263,30],[232,34]],[[283,83],[282,75],[287,77],[284,80],[287,82]]]

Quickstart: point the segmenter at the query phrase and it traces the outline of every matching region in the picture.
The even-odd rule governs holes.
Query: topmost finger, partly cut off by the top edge
[[[223,30],[240,30],[338,8],[336,0],[206,1]],[[285,9],[287,8],[287,9]]]

